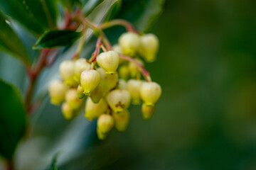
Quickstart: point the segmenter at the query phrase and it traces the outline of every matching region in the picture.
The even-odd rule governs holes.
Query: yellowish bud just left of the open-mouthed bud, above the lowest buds
[[[107,113],[108,107],[107,102],[104,98],[101,98],[99,103],[93,103],[89,97],[85,103],[85,118],[93,120],[98,118],[100,115]]]

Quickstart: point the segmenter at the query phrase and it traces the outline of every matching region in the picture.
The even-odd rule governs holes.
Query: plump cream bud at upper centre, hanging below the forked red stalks
[[[113,74],[117,71],[119,55],[115,51],[102,52],[97,56],[96,61],[107,74]]]

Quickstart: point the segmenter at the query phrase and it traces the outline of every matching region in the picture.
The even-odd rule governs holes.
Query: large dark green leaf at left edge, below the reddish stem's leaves
[[[11,159],[25,133],[26,112],[19,91],[0,79],[0,154]]]

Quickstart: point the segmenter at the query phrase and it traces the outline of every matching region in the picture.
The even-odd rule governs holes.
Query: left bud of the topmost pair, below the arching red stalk
[[[139,35],[132,32],[123,33],[118,40],[124,55],[133,56],[137,52],[140,44]]]

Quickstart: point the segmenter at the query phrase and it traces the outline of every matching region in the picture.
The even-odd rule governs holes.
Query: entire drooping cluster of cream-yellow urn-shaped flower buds
[[[143,118],[151,118],[161,86],[151,81],[142,60],[153,62],[158,48],[155,35],[132,32],[123,33],[112,50],[106,50],[102,42],[97,43],[89,61],[80,58],[60,64],[62,81],[50,83],[51,103],[62,103],[63,115],[68,120],[75,118],[85,104],[85,118],[97,118],[100,140],[113,127],[119,132],[127,129],[130,103],[139,105],[142,101]]]

